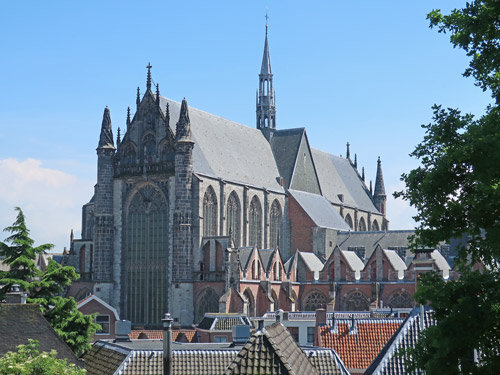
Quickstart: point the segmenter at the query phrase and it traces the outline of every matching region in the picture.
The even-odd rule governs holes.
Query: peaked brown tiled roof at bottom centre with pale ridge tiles
[[[279,322],[255,332],[225,372],[226,375],[248,373],[319,375]]]

